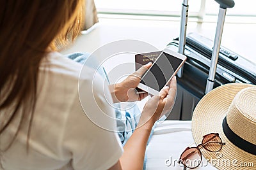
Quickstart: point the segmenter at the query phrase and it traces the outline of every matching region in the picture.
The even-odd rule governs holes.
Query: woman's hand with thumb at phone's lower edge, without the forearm
[[[177,81],[174,76],[170,81],[169,86],[164,87],[159,92],[159,96],[153,96],[147,101],[141,113],[138,127],[148,124],[150,125],[149,128],[152,128],[159,118],[171,111],[173,104],[175,103],[176,92]]]

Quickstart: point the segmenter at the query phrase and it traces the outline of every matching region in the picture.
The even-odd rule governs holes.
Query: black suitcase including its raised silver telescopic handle
[[[216,1],[220,3],[220,12],[216,29],[216,36],[218,37],[215,37],[214,41],[196,33],[190,33],[186,36],[188,4],[182,4],[180,39],[173,39],[168,48],[184,53],[188,59],[181,74],[178,74],[177,77],[177,97],[168,120],[191,120],[196,104],[205,95],[205,91],[209,92],[208,83],[212,83],[213,88],[233,82],[256,84],[256,64],[236,52],[220,46],[225,18],[225,13],[221,12],[228,8],[223,3],[232,3],[232,1]],[[185,15],[186,17],[184,17]],[[220,22],[220,20],[222,21]],[[215,53],[212,54],[213,52]],[[209,73],[213,74],[212,79],[209,78]]]

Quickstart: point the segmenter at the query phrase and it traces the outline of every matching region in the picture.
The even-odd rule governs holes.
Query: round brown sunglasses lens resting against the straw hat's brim
[[[211,152],[218,152],[222,147],[222,141],[218,134],[208,134],[204,137],[202,144],[204,145],[204,148]]]

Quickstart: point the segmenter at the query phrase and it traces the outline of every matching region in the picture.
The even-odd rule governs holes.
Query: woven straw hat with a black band
[[[218,169],[256,169],[256,86],[230,83],[206,94],[193,113],[192,132],[196,145],[205,134],[220,134],[226,143],[220,152],[201,149]]]

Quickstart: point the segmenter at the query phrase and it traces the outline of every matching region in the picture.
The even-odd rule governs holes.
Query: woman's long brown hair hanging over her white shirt
[[[26,120],[28,144],[40,61],[76,38],[83,7],[84,0],[1,0],[0,136],[20,117],[13,140]]]

